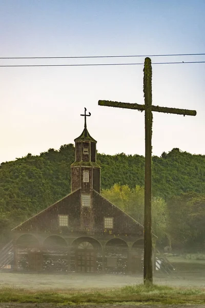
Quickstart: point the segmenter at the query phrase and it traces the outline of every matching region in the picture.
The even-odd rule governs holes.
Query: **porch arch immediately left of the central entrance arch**
[[[43,271],[68,272],[68,244],[58,235],[47,237],[43,243]]]

